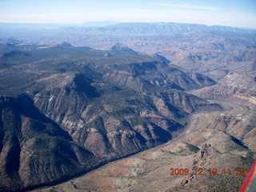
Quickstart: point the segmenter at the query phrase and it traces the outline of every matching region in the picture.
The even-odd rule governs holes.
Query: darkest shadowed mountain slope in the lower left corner
[[[1,97],[0,115],[2,191],[62,180],[99,164],[25,95]]]

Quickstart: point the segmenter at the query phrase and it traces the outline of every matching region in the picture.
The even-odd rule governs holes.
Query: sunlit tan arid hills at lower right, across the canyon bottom
[[[229,109],[225,114],[221,111],[192,114],[184,133],[162,146],[36,191],[238,191],[246,177],[239,173],[239,168],[250,170],[254,162],[254,153],[246,146],[255,150],[255,145],[251,145],[255,136],[244,139],[246,146],[234,139],[232,134],[240,138],[238,135],[245,131],[234,128],[234,124],[240,124],[237,127],[241,128],[241,121],[234,117],[238,117],[238,110],[246,114],[253,111],[230,102],[221,104]],[[170,175],[171,168],[187,168],[193,175]],[[200,168],[202,174],[195,171]],[[214,168],[218,174],[210,174],[209,169]],[[230,169],[230,173],[224,174],[223,169]]]

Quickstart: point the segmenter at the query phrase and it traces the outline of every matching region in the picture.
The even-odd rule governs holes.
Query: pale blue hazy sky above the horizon
[[[0,22],[183,22],[256,28],[256,0],[0,0]]]

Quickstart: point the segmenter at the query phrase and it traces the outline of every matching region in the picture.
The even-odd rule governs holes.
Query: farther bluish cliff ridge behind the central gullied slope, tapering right
[[[203,74],[190,74],[177,66],[164,62],[142,62],[118,65],[117,70],[106,73],[103,78],[117,86],[141,91],[149,88],[149,83],[178,90],[193,90],[203,86],[213,86],[215,82]]]

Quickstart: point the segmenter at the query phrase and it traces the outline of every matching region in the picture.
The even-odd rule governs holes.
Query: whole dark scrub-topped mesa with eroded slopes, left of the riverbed
[[[210,78],[122,47],[64,43],[30,54],[1,70],[1,190],[86,173],[168,142],[200,105],[222,110],[182,91],[214,85]]]

